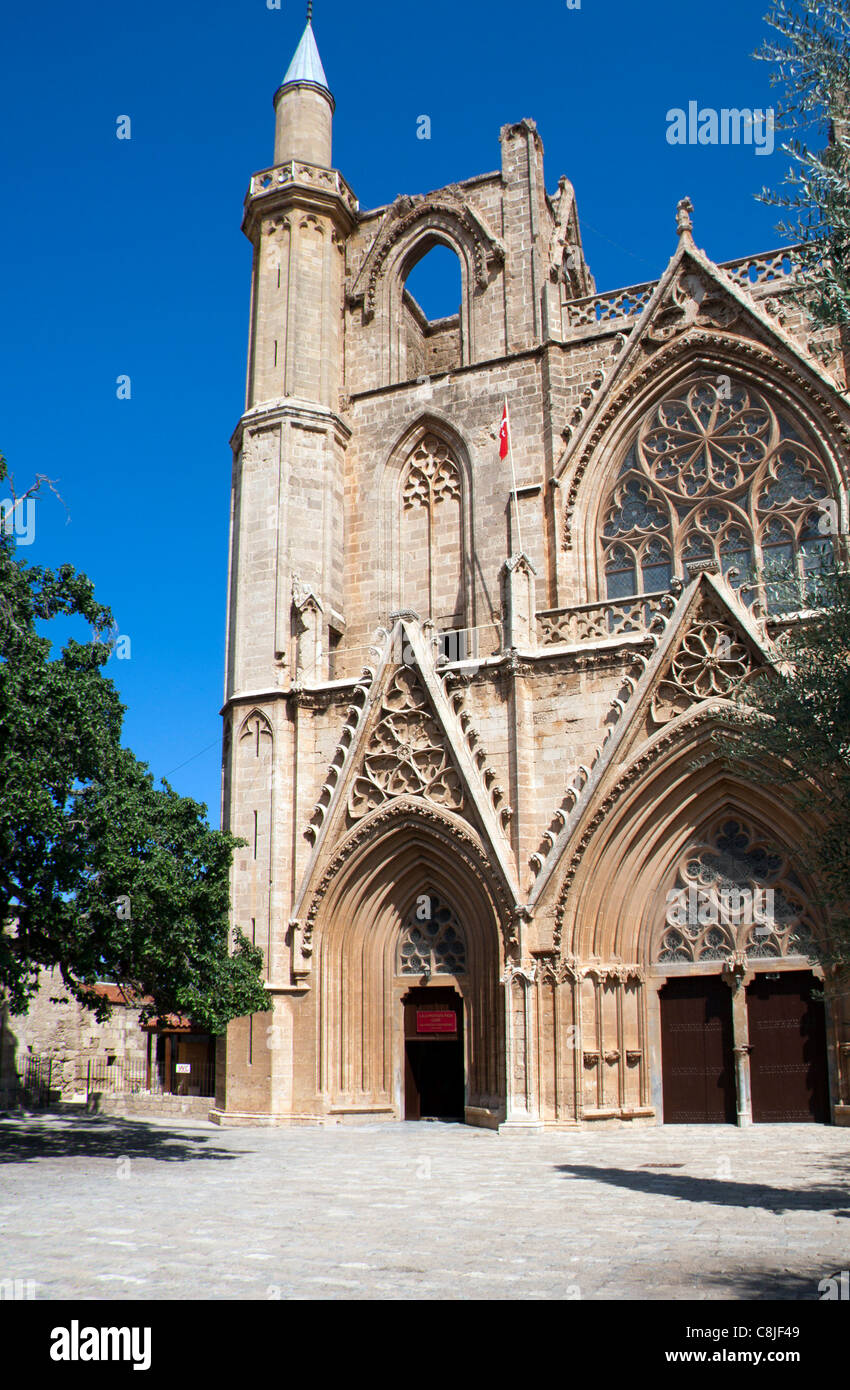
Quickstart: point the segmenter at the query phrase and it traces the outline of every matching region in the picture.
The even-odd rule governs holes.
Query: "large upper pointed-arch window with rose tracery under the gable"
[[[674,448],[672,464],[668,464],[665,448],[657,449],[657,464],[662,471],[668,468],[667,480],[653,480],[647,482],[646,491],[651,493],[643,499],[643,505],[650,509],[656,506],[662,514],[662,524],[650,524],[640,534],[638,531],[624,532],[622,538],[611,534],[608,539],[622,539],[625,549],[632,550],[636,560],[638,589],[649,592],[649,582],[665,587],[665,566],[679,577],[682,575],[682,562],[685,550],[688,557],[700,559],[715,557],[719,550],[719,563],[724,570],[732,567],[743,570],[747,563],[747,543],[742,537],[747,531],[747,506],[740,506],[743,495],[753,485],[761,496],[771,481],[775,484],[776,464],[781,463],[782,449],[797,450],[807,466],[819,471],[822,486],[812,489],[807,486],[801,493],[799,506],[792,507],[794,513],[790,530],[794,531],[794,543],[810,542],[814,552],[817,542],[825,539],[829,528],[844,535],[847,531],[847,495],[846,480],[839,464],[843,456],[842,431],[839,418],[832,402],[821,398],[819,392],[793,371],[786,363],[772,356],[767,349],[753,343],[742,346],[740,341],[712,335],[707,345],[703,341],[693,343],[682,341],[658,352],[650,366],[636,373],[607,406],[604,416],[593,432],[592,438],[575,459],[572,478],[568,488],[565,527],[565,542],[575,553],[575,574],[578,575],[578,589],[571,594],[571,602],[603,600],[608,596],[611,574],[606,574],[606,555],[601,543],[606,525],[611,521],[611,513],[617,503],[622,506],[626,498],[615,498],[617,484],[622,475],[622,486],[629,481],[638,491],[638,475],[646,470],[640,466],[636,471],[629,471],[636,446],[643,450],[646,459],[646,439],[653,435],[656,443],[661,439],[664,430],[665,403],[685,400],[690,386],[703,384],[715,391],[714,418],[710,427],[715,435],[710,438],[710,445],[719,439],[721,448],[714,455],[719,461],[726,453],[732,455],[731,467],[724,481],[718,467],[714,481],[708,480],[706,486],[699,481],[688,485],[694,486],[688,493],[686,486],[678,488],[682,473],[679,460],[675,459],[676,442],[671,435]],[[736,400],[749,398],[744,407],[738,414],[738,423],[744,421],[744,428],[739,431],[738,441],[732,450],[724,449],[722,425],[729,424],[729,416],[735,413]],[[754,428],[751,439],[747,430],[753,425],[756,414],[767,407],[771,423],[761,430]],[[706,443],[706,435],[699,438],[699,421],[692,418],[693,453],[700,443]],[[782,438],[785,432],[785,438]],[[732,428],[733,434],[733,428]],[[728,443],[729,441],[726,441]],[[735,449],[746,457],[747,450],[753,453],[751,464],[747,461],[743,468],[735,468]],[[656,471],[658,471],[658,468]],[[736,474],[733,477],[733,474]],[[762,477],[764,474],[764,477]],[[728,485],[726,485],[728,484]],[[676,493],[681,491],[681,496]],[[793,489],[792,489],[793,491]],[[817,495],[815,495],[817,492]],[[712,500],[719,500],[724,512],[722,524],[717,525],[717,518],[710,518],[707,527],[701,525],[701,518],[696,513],[704,512]],[[817,523],[825,507],[818,503],[835,500],[835,525],[824,521],[818,530]],[[746,502],[746,499],[744,499]],[[640,499],[632,499],[632,510],[640,506]],[[740,514],[739,514],[740,513]],[[761,566],[762,541],[779,556],[782,535],[768,534],[771,523],[769,509],[760,510],[757,505],[750,509],[750,521],[756,523],[756,550],[753,562],[758,570]],[[699,521],[699,524],[697,524]],[[711,534],[715,527],[717,535]],[[692,537],[693,532],[693,537]],[[704,535],[700,532],[706,532]],[[726,535],[728,532],[728,535]],[[740,532],[740,535],[739,535]],[[764,532],[764,534],[762,534]],[[696,545],[688,545],[694,539]],[[701,545],[699,543],[701,542]],[[719,542],[719,545],[718,545]],[[711,556],[708,555],[711,550]],[[646,553],[644,553],[646,552]],[[662,553],[665,552],[665,553]],[[642,570],[646,567],[646,574]],[[611,566],[614,570],[615,566]],[[686,575],[685,575],[686,577]],[[628,588],[628,582],[624,585]],[[612,595],[615,596],[615,595]]]

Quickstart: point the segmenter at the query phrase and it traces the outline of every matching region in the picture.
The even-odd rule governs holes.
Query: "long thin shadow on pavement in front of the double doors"
[[[840,1187],[771,1187],[768,1183],[735,1183],[715,1177],[692,1177],[674,1173],[635,1172],[628,1168],[594,1168],[590,1163],[558,1163],[557,1172],[585,1177],[610,1187],[625,1187],[650,1197],[678,1197],[685,1202],[711,1202],[714,1207],[760,1207],[762,1211],[786,1212],[831,1211],[847,1216],[850,1183]]]

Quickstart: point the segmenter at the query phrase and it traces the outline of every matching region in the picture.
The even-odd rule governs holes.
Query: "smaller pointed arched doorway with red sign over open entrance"
[[[319,1108],[403,1119],[418,1104],[421,1115],[494,1127],[504,1118],[504,991],[489,866],[449,813],[438,821],[400,806],[379,830],[317,920]],[[417,1015],[440,1012],[454,1012],[451,1033],[425,1031],[447,1024]]]

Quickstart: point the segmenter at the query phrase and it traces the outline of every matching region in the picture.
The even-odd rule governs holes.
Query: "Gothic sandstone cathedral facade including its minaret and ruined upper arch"
[[[219,1040],[212,1118],[842,1122],[799,826],[710,756],[790,621],[765,564],[844,543],[840,345],[688,200],[661,278],[597,295],[531,120],[496,172],[361,210],[310,25],[275,110],[222,792],[274,1012]],[[429,321],[438,245],[462,293]]]

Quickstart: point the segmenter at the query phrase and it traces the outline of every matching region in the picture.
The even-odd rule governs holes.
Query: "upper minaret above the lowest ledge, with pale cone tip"
[[[340,631],[343,610],[339,400],[357,202],[331,167],[335,101],[310,13],[274,104],[275,164],[254,174],[244,203],[254,267],[246,413],[232,441],[228,695],[326,677],[328,627]]]

